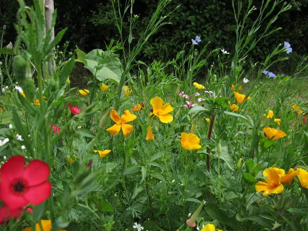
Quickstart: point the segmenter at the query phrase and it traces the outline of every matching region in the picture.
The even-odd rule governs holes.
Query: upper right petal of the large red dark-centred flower
[[[47,180],[50,174],[48,164],[41,160],[30,161],[26,169],[24,170],[23,178],[28,181],[28,186],[35,186],[42,184]]]

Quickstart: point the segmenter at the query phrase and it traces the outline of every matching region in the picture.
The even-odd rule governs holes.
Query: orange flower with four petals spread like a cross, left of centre
[[[130,124],[125,124],[125,123],[136,120],[137,116],[130,113],[129,110],[125,110],[124,113],[122,114],[122,117],[120,118],[120,115],[118,114],[117,111],[111,110],[110,111],[110,118],[116,124],[114,124],[112,127],[109,127],[108,129],[106,129],[106,131],[113,134],[113,136],[117,136],[117,134],[119,133],[119,131],[122,128],[123,136],[127,137],[131,133],[133,126],[130,125]]]

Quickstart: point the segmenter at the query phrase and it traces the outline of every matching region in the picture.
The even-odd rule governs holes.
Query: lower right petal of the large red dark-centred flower
[[[43,184],[32,186],[24,194],[24,198],[33,205],[41,204],[45,201],[51,194],[51,183],[49,181]]]

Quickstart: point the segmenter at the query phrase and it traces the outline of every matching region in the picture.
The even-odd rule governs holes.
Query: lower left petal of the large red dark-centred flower
[[[7,181],[1,181],[0,183],[0,199],[3,201],[3,203],[12,210],[15,210],[28,204],[24,197],[16,196],[10,191],[9,183],[10,182]]]

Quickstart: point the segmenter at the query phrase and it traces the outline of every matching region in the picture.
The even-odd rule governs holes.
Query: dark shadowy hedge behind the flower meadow
[[[31,0],[26,1],[31,5]],[[122,1],[125,4],[125,1]],[[156,9],[157,0],[136,0],[134,14],[138,14],[139,21],[134,31],[134,37],[138,38],[147,23],[152,12]],[[243,1],[244,3],[248,1]],[[274,2],[274,1],[272,1]],[[292,10],[284,12],[275,22],[275,27],[283,29],[270,35],[249,54],[249,62],[263,61],[269,51],[277,44],[288,41],[291,43],[293,53],[288,68],[296,66],[300,56],[307,53],[308,40],[308,0],[285,1],[293,5]],[[260,8],[262,1],[254,1],[254,5]],[[232,1],[217,0],[174,0],[168,5],[166,12],[180,5],[168,18],[172,25],[164,26],[146,44],[145,49],[138,57],[144,62],[152,62],[153,59],[167,61],[175,57],[184,43],[190,43],[191,38],[201,36],[202,43],[210,43],[211,48],[224,48],[233,52],[235,44],[235,20],[232,9]],[[122,5],[122,6],[123,6]],[[271,5],[271,4],[270,4]],[[0,25],[6,25],[4,45],[14,42],[16,34],[13,27],[15,13],[18,8],[17,1],[0,0]],[[70,42],[70,49],[75,45],[88,52],[95,48],[104,48],[111,38],[117,40],[118,31],[114,24],[114,17],[110,1],[106,0],[55,0],[57,8],[56,31],[68,27],[63,43]],[[250,23],[253,23],[252,15]],[[128,15],[127,15],[128,16]],[[266,22],[264,22],[264,26]],[[124,33],[128,31],[128,24],[124,24]],[[261,30],[262,31],[262,28]]]

